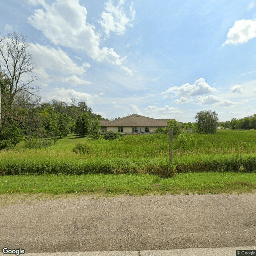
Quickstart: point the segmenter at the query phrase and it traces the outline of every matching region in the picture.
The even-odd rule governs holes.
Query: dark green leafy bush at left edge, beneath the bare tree
[[[0,150],[13,148],[22,138],[22,130],[18,124],[9,124],[5,130],[0,127]]]

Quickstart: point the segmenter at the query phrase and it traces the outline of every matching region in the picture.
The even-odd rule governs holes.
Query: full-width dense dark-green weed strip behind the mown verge
[[[200,155],[167,158],[95,158],[63,160],[8,158],[0,162],[0,175],[13,174],[154,174],[172,177],[181,172],[256,172],[256,154]]]

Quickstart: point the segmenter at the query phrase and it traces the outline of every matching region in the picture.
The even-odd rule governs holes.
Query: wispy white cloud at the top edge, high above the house
[[[105,11],[102,12],[102,20],[99,20],[99,23],[104,28],[104,31],[108,36],[111,31],[118,35],[124,34],[126,26],[129,25],[129,22],[134,20],[136,12],[133,10],[132,4],[130,5],[129,10],[130,17],[127,17],[124,10],[124,2],[125,0],[120,0],[117,6],[114,6],[112,0],[105,2]]]

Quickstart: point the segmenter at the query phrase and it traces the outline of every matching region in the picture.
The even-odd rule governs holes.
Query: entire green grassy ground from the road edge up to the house
[[[193,136],[195,143],[182,149],[174,138],[171,167],[168,135],[164,134],[90,142],[70,134],[56,145],[41,149],[27,149],[20,142],[14,149],[0,152],[0,194],[144,195],[256,190],[255,131],[220,130]],[[86,145],[86,154],[72,152],[78,143]]]

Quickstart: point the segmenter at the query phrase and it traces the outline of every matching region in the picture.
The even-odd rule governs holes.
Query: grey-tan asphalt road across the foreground
[[[255,210],[256,194],[18,202],[0,207],[0,248],[26,253],[140,251],[141,256],[146,250],[256,248]]]

